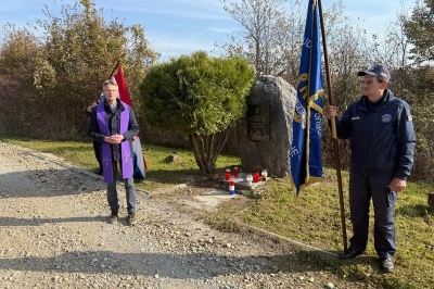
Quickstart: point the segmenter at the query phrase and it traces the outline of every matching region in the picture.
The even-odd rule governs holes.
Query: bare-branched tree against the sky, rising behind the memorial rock
[[[220,48],[231,56],[243,56],[255,68],[256,76],[277,75],[285,67],[283,51],[289,46],[291,23],[281,7],[285,0],[220,0],[226,12],[243,29],[230,36]]]

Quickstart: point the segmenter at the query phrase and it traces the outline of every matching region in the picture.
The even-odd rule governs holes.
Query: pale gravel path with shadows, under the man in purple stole
[[[213,230],[142,192],[137,225],[112,225],[99,176],[38,155],[0,142],[1,289],[365,288],[306,249]]]

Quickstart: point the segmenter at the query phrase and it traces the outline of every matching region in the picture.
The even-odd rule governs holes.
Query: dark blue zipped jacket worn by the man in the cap
[[[350,169],[369,177],[407,179],[416,146],[410,108],[388,89],[371,112],[368,101],[361,97],[336,121],[337,137],[350,138]]]

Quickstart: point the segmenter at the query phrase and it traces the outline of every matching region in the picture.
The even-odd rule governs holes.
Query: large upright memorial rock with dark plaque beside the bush
[[[237,154],[244,172],[290,175],[289,151],[296,90],[281,77],[263,76],[247,97],[247,116],[237,127]],[[261,118],[261,121],[260,121]]]

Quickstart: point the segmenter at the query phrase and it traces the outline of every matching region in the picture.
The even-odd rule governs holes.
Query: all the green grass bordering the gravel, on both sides
[[[90,142],[54,142],[30,139],[0,137],[11,144],[53,153],[67,163],[95,171],[97,162]],[[213,186],[204,180],[197,171],[192,153],[188,150],[162,148],[143,144],[149,165],[146,180],[137,184],[138,188],[153,190],[173,186],[186,180],[199,180],[201,186]],[[176,152],[180,161],[165,163],[170,153]],[[240,165],[240,159],[221,155],[217,169]],[[244,191],[248,197],[244,202],[226,202],[216,213],[201,213],[212,226],[238,231],[239,223],[259,227],[290,239],[328,250],[343,250],[342,223],[339,208],[339,193],[335,172],[324,168],[324,178],[320,185],[307,187],[295,197],[289,179],[270,179],[260,196]],[[352,236],[347,203],[348,173],[342,172],[345,200],[345,223],[347,236]],[[367,255],[355,261],[332,261],[333,268],[346,279],[362,280],[373,288],[432,288],[434,284],[434,212],[427,206],[427,192],[433,192],[433,184],[409,181],[405,192],[399,193],[396,204],[397,254],[394,259],[394,274],[382,274],[378,269],[376,253],[373,249],[372,225]],[[175,198],[183,198],[182,194]],[[186,197],[187,198],[187,197]],[[372,211],[372,210],[371,210]],[[371,213],[371,224],[373,223]],[[312,256],[316,257],[316,256]],[[330,266],[327,261],[327,266]],[[326,264],[326,263],[324,263]]]

